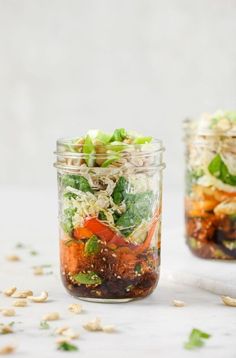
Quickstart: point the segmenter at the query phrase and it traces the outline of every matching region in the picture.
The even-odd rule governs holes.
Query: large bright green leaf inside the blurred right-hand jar
[[[236,175],[230,174],[221,156],[217,154],[208,166],[208,170],[215,178],[223,183],[236,186]]]

